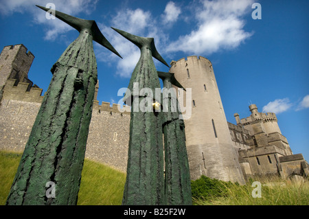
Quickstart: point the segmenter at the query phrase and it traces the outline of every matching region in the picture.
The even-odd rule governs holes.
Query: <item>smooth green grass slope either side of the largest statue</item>
[[[10,192],[21,154],[0,151],[0,205]],[[121,205],[126,174],[85,159],[78,205]]]

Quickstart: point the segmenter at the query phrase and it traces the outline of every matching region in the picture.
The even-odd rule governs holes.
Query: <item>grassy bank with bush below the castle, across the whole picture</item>
[[[21,154],[0,151],[0,205],[5,205]],[[78,205],[121,205],[126,174],[85,159]],[[259,181],[261,198],[253,198],[253,181]],[[202,176],[192,181],[194,205],[309,205],[309,181],[255,178],[245,185]]]

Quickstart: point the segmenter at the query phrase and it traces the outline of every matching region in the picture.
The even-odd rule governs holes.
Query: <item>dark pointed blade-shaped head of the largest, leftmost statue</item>
[[[82,30],[89,30],[90,34],[93,36],[93,41],[99,43],[100,45],[106,47],[106,49],[109,49],[114,54],[122,58],[122,56],[119,55],[119,53],[116,51],[116,49],[107,41],[107,39],[103,36],[102,32],[100,31],[97,23],[92,20],[84,20],[79,19],[75,16],[71,16],[69,14],[65,14],[62,12],[59,12],[57,10],[53,10],[50,8],[45,8],[40,5],[36,5],[38,8],[41,8],[42,10],[45,10],[46,12],[53,13],[56,18],[60,19],[61,21],[67,23],[71,27],[74,27],[78,32],[81,32]]]

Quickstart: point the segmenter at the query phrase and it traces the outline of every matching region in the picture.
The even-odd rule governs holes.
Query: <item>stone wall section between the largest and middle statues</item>
[[[86,158],[126,172],[130,115],[93,109]]]

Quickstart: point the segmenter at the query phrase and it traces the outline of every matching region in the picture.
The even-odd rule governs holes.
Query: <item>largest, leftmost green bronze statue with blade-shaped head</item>
[[[38,5],[37,5],[38,6]],[[38,111],[10,189],[7,205],[76,205],[91,120],[97,64],[96,41],[117,51],[95,21],[54,12],[80,32],[52,67],[52,81]],[[56,198],[47,198],[46,183],[55,183]]]

